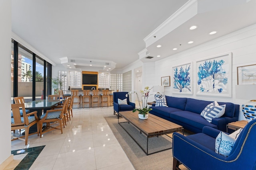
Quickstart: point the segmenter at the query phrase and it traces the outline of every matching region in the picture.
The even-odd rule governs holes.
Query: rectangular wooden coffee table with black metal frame
[[[148,154],[148,138],[150,137],[158,137],[160,135],[167,135],[176,131],[184,131],[183,127],[180,125],[177,125],[175,123],[172,123],[168,120],[162,119],[158,116],[149,114],[148,119],[139,119],[138,118],[138,112],[132,112],[132,111],[120,111],[118,113],[118,117],[121,115],[124,119],[126,119],[126,122],[119,122],[118,124],[126,131],[126,129],[121,125],[121,123],[131,123],[136,129],[140,131],[140,133],[144,134],[147,137],[147,147],[146,150],[143,149],[143,147],[126,131],[130,137],[139,145],[139,147],[147,154]],[[168,135],[167,135],[168,136]],[[168,136],[169,137],[169,136]],[[172,146],[172,145],[171,145]],[[168,148],[172,149],[172,147]],[[154,154],[157,152],[161,152],[167,149],[159,150],[156,152],[152,152],[150,154]]]

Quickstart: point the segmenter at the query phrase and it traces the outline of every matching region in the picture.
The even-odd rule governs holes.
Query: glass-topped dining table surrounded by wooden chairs
[[[46,113],[47,110],[52,109],[52,107],[62,103],[65,99],[58,99],[58,100],[33,100],[31,102],[25,102],[25,109],[29,109],[30,112],[37,111],[37,116],[40,118],[40,116],[43,113]],[[29,134],[37,132],[37,125],[33,125],[29,128]],[[24,134],[23,134],[24,135]]]

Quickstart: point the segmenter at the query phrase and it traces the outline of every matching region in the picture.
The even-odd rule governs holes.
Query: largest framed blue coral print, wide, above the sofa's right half
[[[196,94],[232,96],[232,53],[216,55],[196,62]]]

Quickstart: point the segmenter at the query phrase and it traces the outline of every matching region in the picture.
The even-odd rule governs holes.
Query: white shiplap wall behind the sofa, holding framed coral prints
[[[232,97],[196,95],[196,61],[228,51],[232,52]],[[193,94],[172,94],[172,66],[184,64],[189,61],[193,61]],[[241,104],[247,102],[247,100],[236,99],[236,67],[249,64],[256,64],[256,24],[198,45],[186,51],[166,57],[160,61],[156,61],[155,65],[154,63],[144,63],[144,85],[160,85],[162,76],[170,76],[171,86],[164,87],[164,94],[167,96],[188,97],[209,101],[217,100],[217,102],[232,102],[241,106]],[[239,119],[244,119],[241,111]]]

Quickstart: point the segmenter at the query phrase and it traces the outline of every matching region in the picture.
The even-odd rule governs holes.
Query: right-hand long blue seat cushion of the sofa
[[[170,108],[170,107],[169,107]],[[176,111],[170,114],[170,118],[185,123],[187,125],[196,127],[198,129],[203,129],[204,126],[210,126],[215,129],[218,127],[212,123],[209,123],[200,114],[193,113],[191,111]]]

